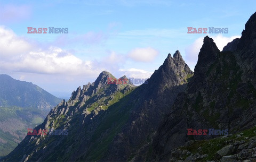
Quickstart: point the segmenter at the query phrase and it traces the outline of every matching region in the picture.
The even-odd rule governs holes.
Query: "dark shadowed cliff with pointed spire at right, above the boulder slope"
[[[154,139],[153,159],[169,160],[171,150],[189,140],[215,135],[187,135],[187,129],[228,129],[236,133],[256,124],[254,13],[236,50],[220,52],[204,38],[194,76],[180,93]]]

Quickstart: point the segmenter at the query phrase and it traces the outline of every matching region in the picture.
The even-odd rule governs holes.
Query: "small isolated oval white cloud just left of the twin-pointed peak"
[[[139,62],[151,62],[159,54],[157,50],[151,47],[147,48],[135,48],[133,49],[128,56],[134,61]]]

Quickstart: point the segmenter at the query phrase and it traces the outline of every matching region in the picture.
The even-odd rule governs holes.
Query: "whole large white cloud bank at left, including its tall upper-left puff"
[[[0,50],[0,69],[4,71],[90,76],[101,72],[93,69],[91,61],[82,61],[59,47],[38,49],[4,27],[0,27]]]

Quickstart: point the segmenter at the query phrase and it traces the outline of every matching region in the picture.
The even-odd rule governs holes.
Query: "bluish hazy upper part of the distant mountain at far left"
[[[46,110],[61,100],[31,82],[19,81],[9,75],[0,75],[0,106],[30,107]]]

